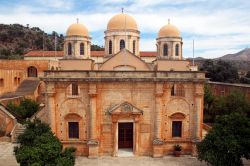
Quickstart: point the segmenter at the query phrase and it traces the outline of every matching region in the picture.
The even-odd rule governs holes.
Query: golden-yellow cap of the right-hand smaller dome
[[[163,26],[158,33],[158,37],[180,37],[180,36],[181,36],[180,31],[171,24]]]

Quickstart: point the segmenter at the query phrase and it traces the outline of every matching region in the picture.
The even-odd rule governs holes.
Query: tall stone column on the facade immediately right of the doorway
[[[153,140],[153,157],[163,157],[164,142],[161,139],[163,84],[157,83],[155,90],[155,131]]]

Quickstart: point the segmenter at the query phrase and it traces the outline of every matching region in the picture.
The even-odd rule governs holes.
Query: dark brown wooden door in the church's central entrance
[[[133,123],[118,123],[118,148],[133,148]]]

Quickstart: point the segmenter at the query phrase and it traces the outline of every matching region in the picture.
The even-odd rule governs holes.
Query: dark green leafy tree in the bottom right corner
[[[241,166],[250,159],[250,119],[243,113],[223,115],[197,145],[198,159],[214,166]]]

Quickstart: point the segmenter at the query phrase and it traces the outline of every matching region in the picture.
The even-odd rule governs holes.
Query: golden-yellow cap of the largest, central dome
[[[107,26],[108,30],[118,30],[118,29],[132,29],[138,30],[136,21],[133,17],[121,13],[112,17]]]

